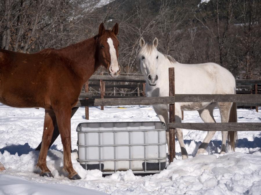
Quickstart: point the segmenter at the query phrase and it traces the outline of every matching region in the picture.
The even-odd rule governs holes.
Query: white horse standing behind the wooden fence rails
[[[152,44],[139,41],[141,50],[138,53],[138,62],[142,73],[146,78],[145,93],[147,97],[169,96],[168,68],[175,67],[175,93],[176,94],[235,94],[235,78],[233,75],[215,63],[204,64],[180,64],[171,56],[157,51],[158,40],[155,38]],[[233,106],[232,106],[233,105]],[[189,102],[175,103],[175,122],[181,122],[182,110],[197,110],[204,122],[215,122],[213,109],[220,110],[221,122],[237,122],[235,103],[209,103]],[[168,123],[169,105],[153,105],[153,108],[162,122]],[[169,133],[166,138],[169,146]],[[208,131],[197,154],[206,152],[215,131]],[[176,136],[180,143],[182,159],[188,154],[183,140],[182,129],[176,129]],[[222,147],[220,153],[226,151],[228,138],[232,149],[235,149],[236,131],[222,131]]]

